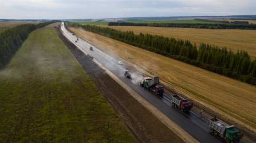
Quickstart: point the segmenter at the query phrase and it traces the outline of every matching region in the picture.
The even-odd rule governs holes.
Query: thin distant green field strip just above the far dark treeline
[[[132,23],[173,23],[173,24],[218,24],[216,21],[205,21],[205,20],[127,20],[124,22]]]

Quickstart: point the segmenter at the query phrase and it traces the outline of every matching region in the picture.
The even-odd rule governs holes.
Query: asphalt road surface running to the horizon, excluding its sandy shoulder
[[[127,85],[132,87],[134,91],[143,96],[145,100],[150,102],[166,116],[172,119],[173,122],[178,124],[186,132],[192,135],[196,140],[205,143],[221,142],[220,139],[217,139],[209,133],[208,119],[200,117],[200,115],[196,114],[195,112],[185,114],[179,109],[171,107],[168,96],[165,95],[163,96],[163,98],[156,96],[136,84],[136,82],[138,81],[131,81],[124,77],[124,72],[127,69],[129,69],[132,73],[138,73],[139,75],[141,74],[135,67],[132,67],[131,64],[128,64],[125,61],[122,61],[123,64],[118,64],[118,61],[121,61],[121,59],[116,57],[115,55],[110,56],[102,52],[100,48],[97,48],[94,45],[91,45],[87,41],[84,41],[80,38],[78,38],[79,40],[77,41],[77,36],[72,35],[72,33],[67,31],[67,29],[65,29],[65,26],[63,26],[63,23],[61,24],[61,31],[63,35],[72,43],[74,43],[74,45],[76,45],[78,49],[84,52],[84,54],[89,54],[93,57],[93,61],[102,64],[104,68],[107,68],[117,77],[122,79]],[[93,50],[90,50],[90,47],[93,47]],[[241,140],[241,142],[243,142],[243,140]]]

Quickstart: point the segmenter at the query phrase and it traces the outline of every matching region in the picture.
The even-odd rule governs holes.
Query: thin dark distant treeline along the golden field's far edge
[[[152,27],[182,27],[200,29],[256,29],[256,24],[189,24],[189,23],[132,23],[109,22],[108,26],[152,26]]]

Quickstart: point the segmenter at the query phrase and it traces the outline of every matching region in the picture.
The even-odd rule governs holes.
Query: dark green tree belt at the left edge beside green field
[[[28,38],[29,33],[35,29],[47,26],[56,21],[44,22],[40,24],[23,24],[7,29],[0,33],[0,69],[4,68],[22,43]]]

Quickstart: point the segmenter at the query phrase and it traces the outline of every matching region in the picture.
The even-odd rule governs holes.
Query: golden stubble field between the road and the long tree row
[[[102,50],[140,67],[143,72],[158,75],[166,86],[209,107],[221,117],[256,131],[255,86],[207,72],[99,34],[82,29],[70,29]]]

